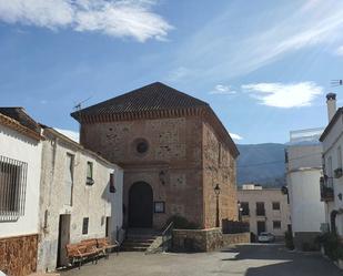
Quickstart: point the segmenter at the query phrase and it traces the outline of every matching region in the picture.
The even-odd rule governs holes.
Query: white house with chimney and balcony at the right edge
[[[330,231],[343,238],[343,108],[336,110],[335,101],[334,93],[326,95],[329,124],[320,139],[324,163],[321,198],[325,203],[325,219]]]

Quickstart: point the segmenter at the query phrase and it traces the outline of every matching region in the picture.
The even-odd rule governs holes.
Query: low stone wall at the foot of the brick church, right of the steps
[[[221,228],[174,229],[172,241],[175,252],[211,252],[232,244],[250,243],[250,233],[222,234]]]

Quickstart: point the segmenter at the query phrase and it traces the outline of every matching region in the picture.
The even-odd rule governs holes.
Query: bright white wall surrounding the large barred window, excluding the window
[[[24,215],[17,222],[0,221],[0,237],[37,234],[41,143],[0,125],[0,155],[28,163]]]

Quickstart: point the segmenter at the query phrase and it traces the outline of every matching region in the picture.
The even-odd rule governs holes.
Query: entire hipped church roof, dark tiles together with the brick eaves
[[[180,114],[209,114],[211,123],[218,130],[221,139],[225,141],[235,157],[239,155],[239,151],[225,126],[206,102],[161,82],[151,83],[81,111],[73,112],[71,116],[80,123],[81,121],[82,123],[94,123],[110,122],[111,120],[153,119],[154,114],[158,117]]]

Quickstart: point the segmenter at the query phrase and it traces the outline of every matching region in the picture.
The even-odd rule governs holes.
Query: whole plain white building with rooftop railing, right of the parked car
[[[292,131],[286,147],[286,185],[290,198],[294,246],[303,249],[313,245],[325,223],[321,202],[323,129]]]

